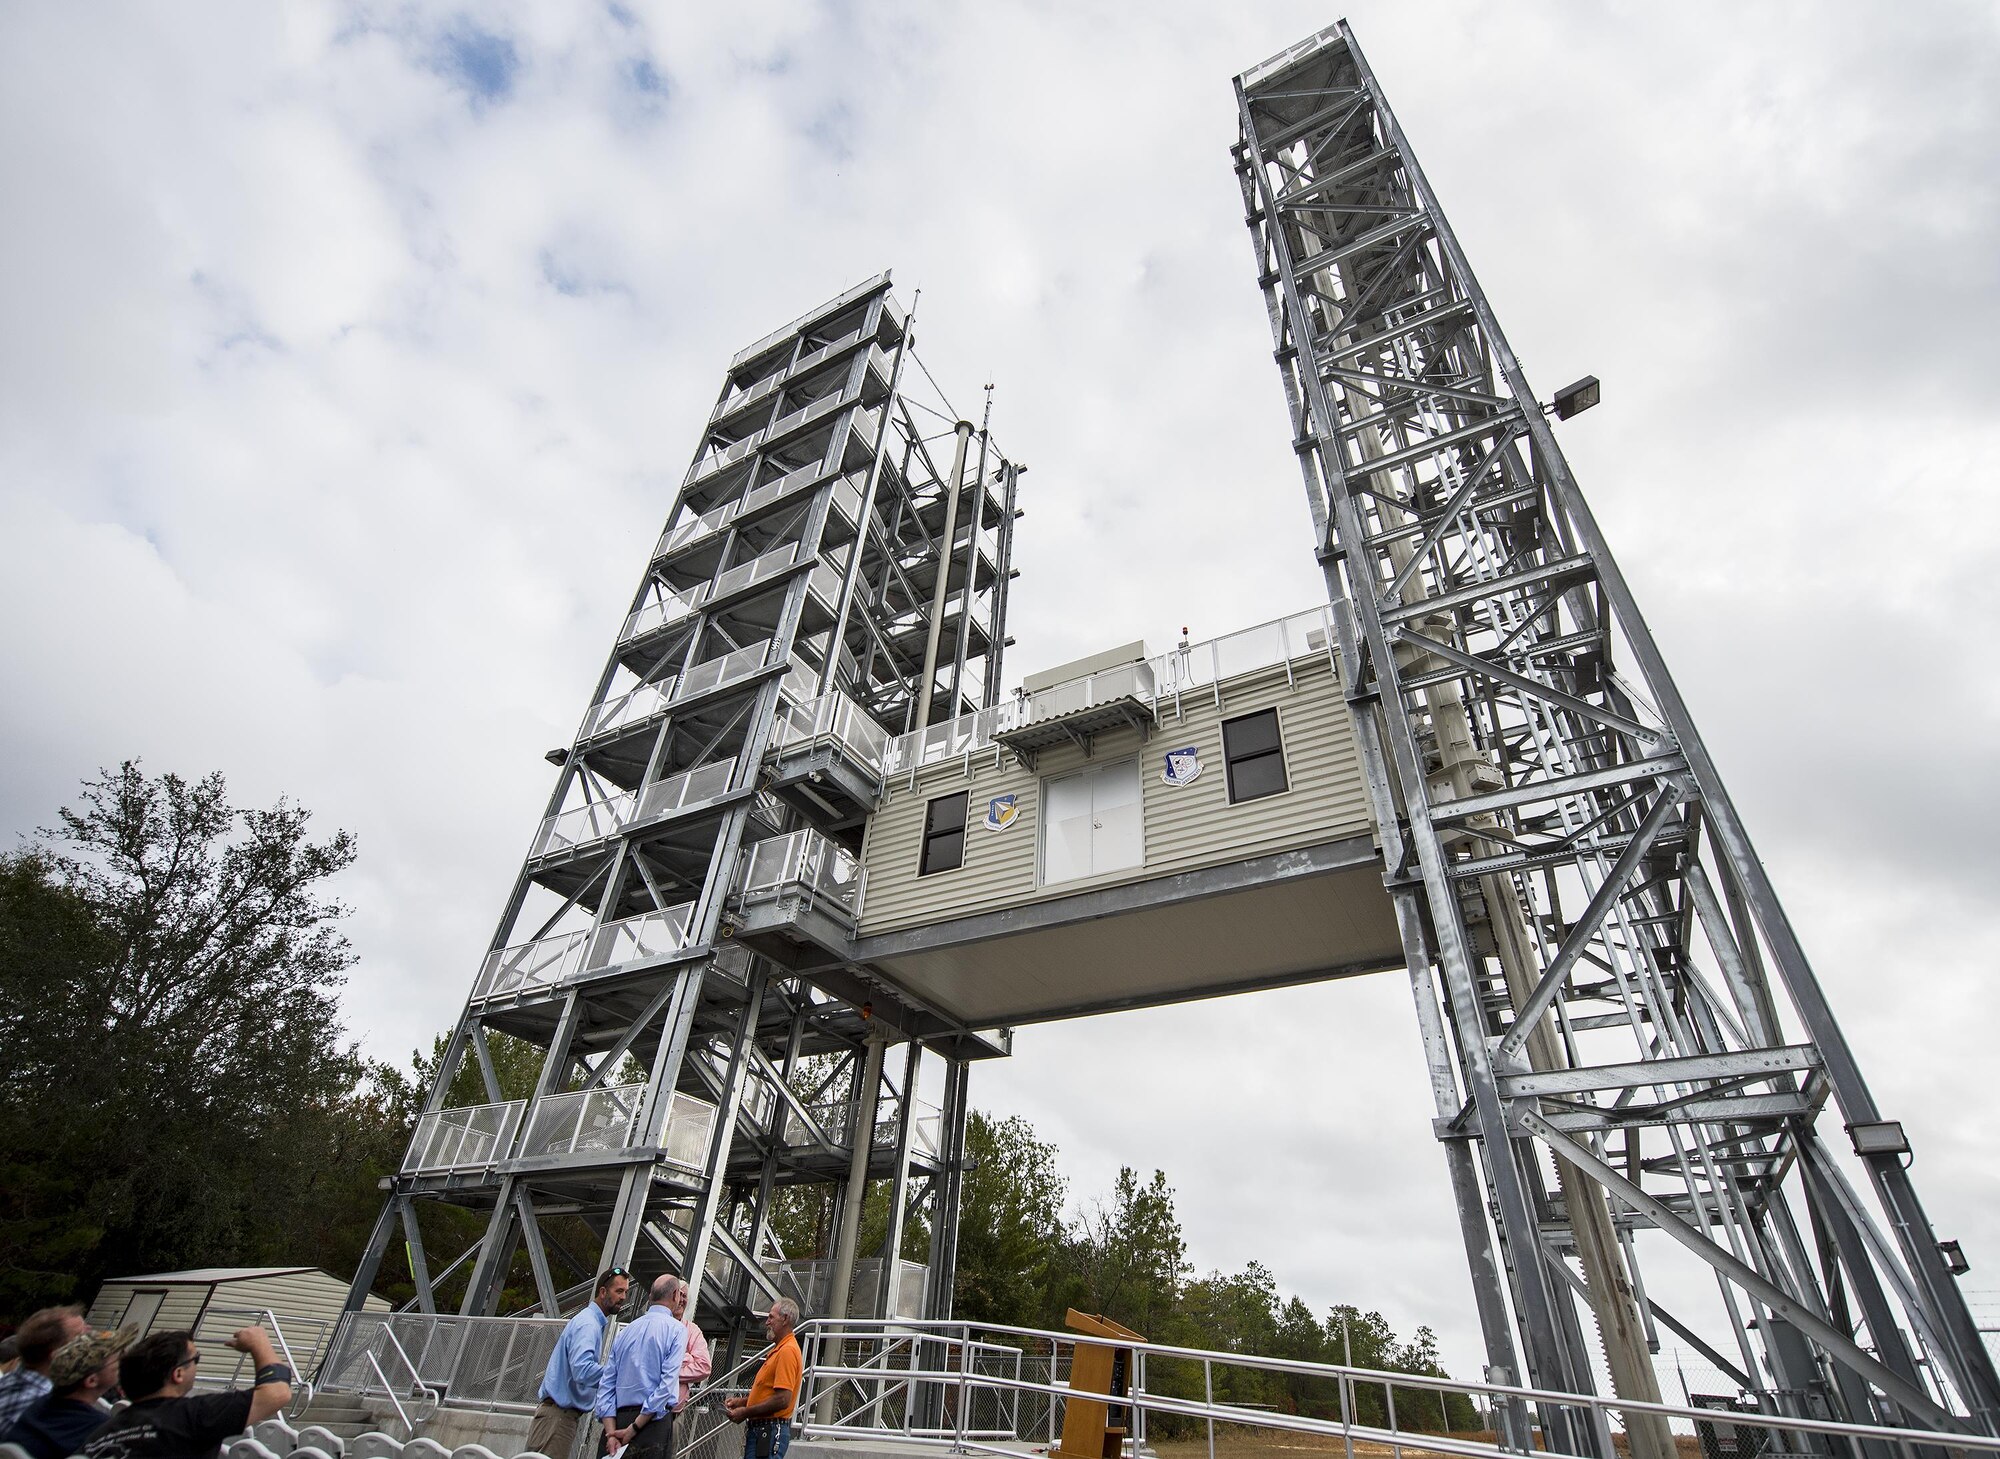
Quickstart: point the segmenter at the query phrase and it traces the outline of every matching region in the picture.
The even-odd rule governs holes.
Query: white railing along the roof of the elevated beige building
[[[896,735],[882,751],[882,773],[918,769],[946,759],[990,749],[996,735],[1054,720],[1064,714],[1110,704],[1118,698],[1138,700],[1160,712],[1164,704],[1180,704],[1192,690],[1210,690],[1220,702],[1226,680],[1262,670],[1292,666],[1302,660],[1334,662],[1332,610],[1308,608],[1302,614],[1274,618],[1268,624],[1224,634],[1202,644],[1156,654],[1150,660],[1122,664],[1100,674],[1054,684],[1008,704],[946,720],[924,730]]]

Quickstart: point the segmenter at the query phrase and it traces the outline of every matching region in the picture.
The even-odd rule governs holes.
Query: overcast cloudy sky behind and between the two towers
[[[1022,672],[1316,598],[1228,148],[1312,4],[0,10],[0,833],[98,765],[360,835],[462,1005],[728,356],[894,268],[1030,464]],[[1356,4],[1972,1287],[2000,1287],[1984,4]],[[1478,1337],[1398,979],[1028,1029],[974,1097],[1202,1267]],[[1986,1049],[1982,1055],[1980,1049]]]

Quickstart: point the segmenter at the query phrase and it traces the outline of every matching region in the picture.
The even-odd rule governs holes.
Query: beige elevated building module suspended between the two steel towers
[[[740,939],[972,1025],[1400,967],[1330,642],[1132,644],[888,741],[848,901]]]

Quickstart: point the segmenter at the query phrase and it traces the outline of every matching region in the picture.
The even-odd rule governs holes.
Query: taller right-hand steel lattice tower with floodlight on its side
[[[1900,1131],[1352,32],[1236,98],[1494,1379],[1594,1391],[1580,1295],[1620,1397],[1658,1397],[1658,1323],[1768,1411],[1994,1433]],[[1876,1151],[1872,1201],[1822,1143],[1828,1097]],[[1662,1237],[1712,1271],[1720,1321],[1648,1299]],[[1552,1447],[1608,1459],[1602,1419],[1570,1423]],[[1658,1417],[1628,1433],[1672,1453]]]

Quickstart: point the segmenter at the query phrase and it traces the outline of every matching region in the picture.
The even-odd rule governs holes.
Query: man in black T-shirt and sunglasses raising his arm
[[[244,1327],[230,1341],[256,1363],[256,1387],[188,1397],[202,1361],[194,1333],[152,1333],[124,1355],[132,1405],[84,1445],[88,1459],[216,1459],[224,1439],[292,1401],[292,1369],[278,1361],[270,1333]]]

